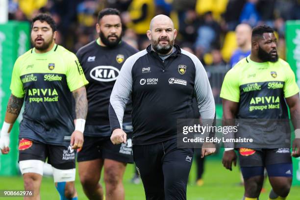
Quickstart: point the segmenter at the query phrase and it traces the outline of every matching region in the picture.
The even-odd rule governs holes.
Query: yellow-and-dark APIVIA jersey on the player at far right
[[[257,63],[248,56],[227,72],[220,97],[239,103],[237,136],[253,138],[251,147],[278,148],[286,147],[290,140],[285,98],[297,93],[295,75],[287,62]]]

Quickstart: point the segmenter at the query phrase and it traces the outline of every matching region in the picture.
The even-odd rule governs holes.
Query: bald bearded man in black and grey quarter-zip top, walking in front
[[[125,61],[110,96],[113,144],[126,142],[122,119],[132,98],[133,158],[147,200],[186,200],[194,149],[177,148],[176,121],[194,118],[195,95],[202,118],[215,116],[206,72],[195,55],[174,44],[176,35],[169,17],[154,17],[150,45]],[[202,148],[202,157],[214,151]]]

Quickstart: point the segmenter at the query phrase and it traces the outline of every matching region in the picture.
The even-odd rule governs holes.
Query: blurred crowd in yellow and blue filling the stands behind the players
[[[123,40],[140,50],[149,45],[146,31],[152,17],[170,16],[179,32],[176,43],[206,67],[230,66],[236,49],[250,48],[249,36],[235,32],[241,23],[273,27],[284,59],[285,22],[300,19],[300,0],[9,0],[9,20],[30,21],[37,13],[50,13],[58,25],[56,43],[75,52],[97,37],[97,15],[106,7],[121,11]]]

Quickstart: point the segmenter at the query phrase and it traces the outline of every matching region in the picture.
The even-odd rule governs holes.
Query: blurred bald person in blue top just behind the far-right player
[[[230,58],[229,65],[231,68],[251,52],[251,26],[240,24],[236,26],[235,34],[238,49],[233,52]]]

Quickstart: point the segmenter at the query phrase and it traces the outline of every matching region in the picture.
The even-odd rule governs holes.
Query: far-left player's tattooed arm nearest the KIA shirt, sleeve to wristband
[[[72,92],[75,99],[76,119],[85,119],[88,110],[88,101],[86,98],[85,86],[82,86]]]

